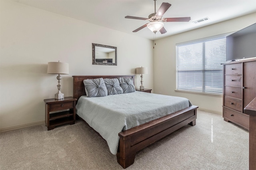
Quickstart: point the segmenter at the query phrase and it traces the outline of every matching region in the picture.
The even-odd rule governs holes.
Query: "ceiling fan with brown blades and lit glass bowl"
[[[171,4],[163,2],[158,11],[156,12],[156,0],[155,2],[155,12],[150,14],[148,18],[141,18],[136,16],[126,16],[124,18],[136,19],[136,20],[147,20],[150,23],[137,28],[133,32],[140,31],[142,28],[146,26],[156,34],[156,32],[160,31],[161,34],[166,33],[166,29],[164,28],[163,22],[188,22],[190,21],[190,17],[179,17],[179,18],[162,18],[164,13],[170,8]]]

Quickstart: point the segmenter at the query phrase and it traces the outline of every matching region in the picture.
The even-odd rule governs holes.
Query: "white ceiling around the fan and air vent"
[[[163,18],[191,17],[191,20],[189,22],[165,22],[164,28],[167,33],[160,34],[157,32],[154,36],[154,33],[148,28],[143,28],[136,33],[132,32],[148,21],[124,18],[125,16],[148,18],[149,14],[154,13],[154,0],[14,1],[150,40],[256,12],[256,0],[156,0],[156,11],[163,2],[172,4]],[[205,17],[210,20],[198,24],[193,23],[193,21]]]

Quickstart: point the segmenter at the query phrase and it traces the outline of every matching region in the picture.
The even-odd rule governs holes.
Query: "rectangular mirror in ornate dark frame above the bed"
[[[117,65],[117,47],[92,43],[92,64]]]

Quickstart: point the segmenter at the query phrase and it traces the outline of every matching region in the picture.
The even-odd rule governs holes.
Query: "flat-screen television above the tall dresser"
[[[256,23],[226,37],[226,61],[256,57]]]

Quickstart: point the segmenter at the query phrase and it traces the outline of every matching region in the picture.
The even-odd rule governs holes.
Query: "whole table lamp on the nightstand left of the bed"
[[[60,80],[61,76],[60,74],[68,74],[69,68],[68,63],[61,63],[59,62],[48,62],[48,68],[47,73],[48,74],[58,74],[57,80],[58,80],[58,92],[55,94],[55,99],[64,99],[64,94],[60,91]]]

